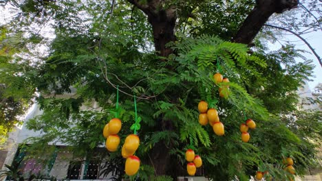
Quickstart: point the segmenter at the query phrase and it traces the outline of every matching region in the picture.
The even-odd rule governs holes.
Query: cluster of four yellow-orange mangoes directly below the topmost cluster
[[[208,123],[213,127],[213,132],[218,136],[225,134],[224,124],[219,121],[218,111],[215,108],[208,109],[208,103],[206,101],[200,101],[198,104],[199,123],[201,125],[207,125]]]

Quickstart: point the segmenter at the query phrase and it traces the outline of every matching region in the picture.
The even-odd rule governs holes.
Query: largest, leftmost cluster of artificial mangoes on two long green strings
[[[120,136],[118,132],[122,127],[122,122],[118,118],[111,119],[103,129],[103,136],[106,139],[105,146],[109,152],[116,152],[120,144]],[[140,138],[136,134],[130,134],[125,138],[125,143],[122,146],[122,156],[127,158],[125,161],[125,173],[128,176],[133,176],[140,168],[140,158],[133,156],[140,145]]]

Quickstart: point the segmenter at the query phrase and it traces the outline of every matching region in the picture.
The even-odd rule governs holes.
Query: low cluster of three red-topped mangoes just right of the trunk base
[[[192,149],[186,150],[186,160],[189,162],[186,165],[186,171],[188,172],[189,176],[195,176],[196,168],[202,166],[202,159],[199,155],[195,155],[195,152]]]

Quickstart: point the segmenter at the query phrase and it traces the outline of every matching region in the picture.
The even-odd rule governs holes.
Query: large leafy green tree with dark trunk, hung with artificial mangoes
[[[317,145],[308,138],[319,140],[321,132],[305,126],[295,130],[298,123],[288,116],[297,110],[296,91],[312,74],[312,60],[292,45],[269,51],[254,40],[272,14],[296,8],[298,1],[28,0],[12,5],[20,13],[8,27],[23,27],[28,40],[39,40],[30,45],[47,43],[35,33],[44,22],[54,29],[50,50],[33,60],[39,67],[23,70],[25,80],[43,94],[77,90],[70,99],[37,98],[44,113],[28,128],[45,135],[33,138],[35,145],[59,138],[74,146],[75,154],[90,155],[103,143],[101,130],[116,111],[124,139],[132,132],[136,95],[142,180],[186,175],[188,148],[202,156],[204,175],[214,180],[247,180],[257,170],[284,180],[290,174],[283,171],[282,158],[294,158],[299,175],[314,162]],[[211,78],[216,71],[230,83],[216,85]],[[225,86],[230,89],[220,98],[218,88]],[[117,87],[120,109],[115,110]],[[80,110],[92,99],[100,108]],[[225,136],[197,123],[202,99],[219,111]],[[312,114],[307,117],[317,130],[319,114]],[[242,143],[239,125],[246,118],[255,120],[257,129],[249,143]],[[120,151],[110,156],[120,159]]]

